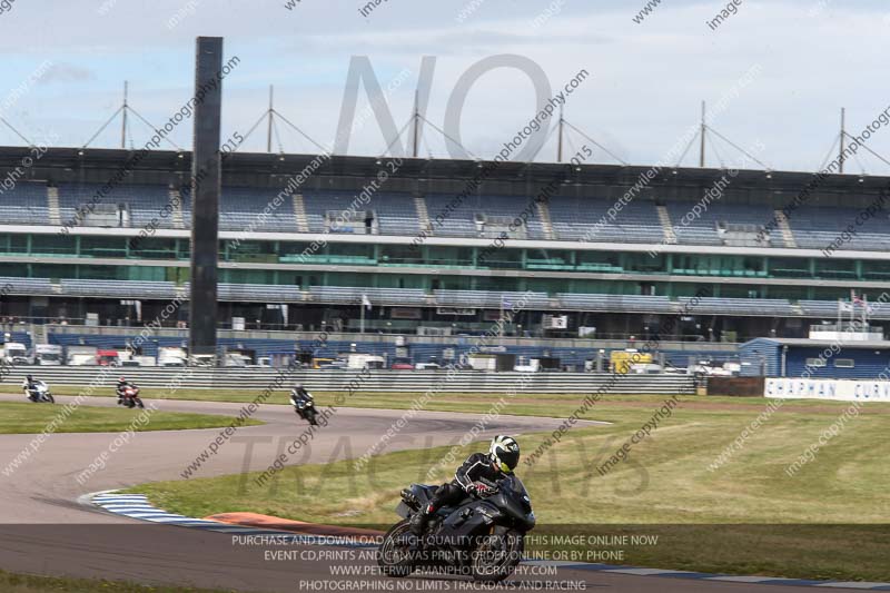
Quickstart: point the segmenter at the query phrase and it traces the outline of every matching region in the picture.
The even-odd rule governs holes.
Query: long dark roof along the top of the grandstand
[[[30,154],[28,147],[0,147],[0,169],[20,166]],[[50,148],[31,168],[34,179],[51,181],[101,181],[109,179],[109,171],[119,169],[135,150],[103,148]],[[289,155],[265,152],[238,152],[226,159],[224,176],[228,184],[268,185],[270,175],[294,175],[303,170],[317,155]],[[334,156],[326,160],[315,174],[318,177],[370,178],[380,170],[380,162],[390,157]],[[492,161],[485,161],[492,162]],[[405,158],[390,179],[472,179],[478,175],[483,161]],[[581,165],[573,167],[568,180],[573,184],[614,184],[632,186],[651,166]],[[152,150],[136,166],[127,182],[160,181],[160,176],[170,172],[188,175],[191,169],[191,152]],[[663,167],[651,180],[652,186],[703,186],[711,185],[724,175],[716,168]],[[152,177],[152,174],[156,174]],[[566,174],[565,164],[554,162],[503,162],[491,170],[488,181],[551,181]],[[812,174],[799,171],[742,170],[734,180],[738,187],[779,192],[797,192],[810,181]],[[823,180],[824,191],[850,191],[858,195],[878,194],[890,184],[890,177],[863,177],[860,175],[831,175]]]

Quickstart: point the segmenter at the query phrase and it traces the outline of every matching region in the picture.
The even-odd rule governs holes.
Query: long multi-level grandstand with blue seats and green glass
[[[23,150],[0,149],[0,166]],[[78,324],[93,314],[117,325],[150,319],[188,294],[188,154],[150,154],[60,234],[127,157],[51,149],[31,179],[0,196],[0,279],[11,285],[0,316]],[[279,196],[313,158],[226,160],[221,327],[244,318],[265,329],[355,332],[369,303],[368,332],[472,335],[523,303],[507,335],[576,338],[584,328],[595,338],[642,339],[669,327],[662,337],[676,340],[803,337],[811,323],[837,315],[850,288],[877,297],[890,278],[886,215],[831,258],[821,251],[887,186],[882,178],[830,176],[765,233],[810,176],[740,171],[694,218],[691,207],[723,171],[661,170],[616,208],[646,169],[507,162],[475,184],[477,162],[405,159],[377,191],[362,194],[380,161],[334,157]],[[535,205],[560,178],[555,195]],[[531,215],[516,219],[523,210]],[[140,231],[148,237],[129,243]],[[708,296],[691,306],[702,289]],[[187,317],[184,307],[166,324]],[[871,317],[890,318],[890,308]]]

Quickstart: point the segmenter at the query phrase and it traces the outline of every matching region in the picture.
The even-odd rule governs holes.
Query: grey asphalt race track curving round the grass
[[[58,397],[57,407],[70,402]],[[22,401],[0,396],[0,401]],[[147,403],[150,401],[146,401]],[[159,409],[235,416],[243,404],[162,401]],[[111,398],[90,398],[90,406],[113,406]],[[136,413],[136,411],[135,411]],[[319,431],[298,463],[325,463],[358,457],[377,443],[379,435],[402,416],[403,411],[339,408],[328,427]],[[239,428],[233,442],[197,474],[207,477],[260,470],[290,442],[306,424],[297,422],[287,406],[261,406],[255,414],[263,426]],[[428,447],[456,442],[479,415],[421,412],[402,431],[387,451]],[[560,419],[502,416],[491,422],[483,435],[552,431]],[[465,591],[491,589],[459,579],[387,580],[373,574],[374,562],[356,557],[342,547],[296,545],[287,560],[269,560],[266,551],[280,547],[235,542],[231,535],[185,527],[146,524],[109,514],[78,502],[83,494],[136,484],[181,480],[180,473],[195,459],[219,428],[139,433],[111,455],[105,470],[87,483],[80,474],[106,451],[115,435],[109,433],[55,434],[40,451],[11,476],[0,474],[0,569],[32,574],[103,577],[148,584],[179,584],[237,591]],[[0,435],[0,467],[6,467],[34,435]],[[348,437],[344,439],[344,437]],[[250,455],[246,452],[250,449]],[[336,454],[336,456],[334,456]],[[253,511],[238,508],[230,511]],[[393,514],[395,521],[396,515]],[[319,557],[327,555],[327,559]],[[348,561],[345,555],[352,555]],[[334,576],[344,564],[367,566],[370,574]],[[359,569],[364,570],[364,569]],[[557,583],[558,586],[547,586]],[[560,567],[556,574],[524,573],[514,577],[511,590],[595,590],[616,592],[740,592],[793,593],[811,587],[752,585],[671,577],[605,574]],[[494,590],[496,591],[496,590]]]

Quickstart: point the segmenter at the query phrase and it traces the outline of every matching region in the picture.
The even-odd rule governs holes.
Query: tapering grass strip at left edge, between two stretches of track
[[[42,432],[62,411],[61,404],[33,404],[30,402],[0,402],[0,434],[31,434]],[[135,423],[145,412],[150,422]],[[117,433],[132,428],[141,431],[185,431],[189,428],[218,428],[228,426],[233,417],[211,414],[182,414],[152,412],[149,408],[78,406],[70,416],[58,424],[58,433]],[[246,426],[263,424],[248,418]]]

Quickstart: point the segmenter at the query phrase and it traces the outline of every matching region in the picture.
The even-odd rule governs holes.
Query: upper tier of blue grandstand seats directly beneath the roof
[[[59,209],[62,221],[73,218],[77,208],[88,204],[102,188],[100,184],[60,184]],[[181,188],[182,218],[186,227],[191,219],[188,188]],[[220,207],[220,229],[257,231],[297,233],[297,220],[290,200],[274,208],[269,216],[260,218],[264,209],[275,199],[278,190],[268,188],[224,187]],[[449,210],[453,194],[428,194],[423,197],[431,220],[439,214],[445,215],[442,225],[434,225],[433,234],[452,237],[481,237],[478,220],[497,218],[512,220],[533,202],[533,196],[469,196],[461,205]],[[422,224],[415,206],[414,196],[407,192],[376,192],[367,204],[358,206],[359,211],[374,213],[374,233],[382,235],[413,236]],[[327,213],[339,214],[347,210],[356,200],[356,194],[333,190],[313,190],[304,194],[306,217],[309,230],[324,233]],[[174,216],[158,216],[170,201],[170,190],[164,185],[125,184],[111,189],[100,202],[101,207],[115,210],[125,205],[129,220],[125,225],[139,228],[157,218],[160,228],[175,228]],[[556,240],[592,240],[617,243],[654,243],[664,239],[664,229],[654,204],[636,199],[624,205],[614,221],[597,225],[607,217],[614,200],[590,197],[554,196],[548,210]],[[711,202],[694,220],[683,225],[683,217],[694,205],[693,201],[668,201],[666,211],[680,245],[726,245],[732,241],[744,243],[744,229],[758,229],[773,218],[773,210],[765,205],[738,205]],[[545,238],[543,225],[536,209],[528,217],[525,236],[530,239]],[[840,237],[847,226],[856,219],[859,210],[851,208],[825,208],[803,206],[789,217],[789,226],[798,247],[823,249]],[[16,187],[0,195],[0,223],[6,224],[50,224],[49,201],[44,182],[19,181]],[[840,249],[890,250],[890,234],[886,233],[887,218],[879,214],[867,220],[849,241]],[[86,223],[87,225],[90,221]],[[108,219],[93,221],[93,225],[117,226]],[[729,228],[728,228],[729,227]],[[346,226],[339,231],[348,231]],[[356,220],[352,226],[356,233],[365,233],[365,221]],[[719,228],[726,229],[722,233]],[[773,231],[770,244],[789,247],[780,231]]]

